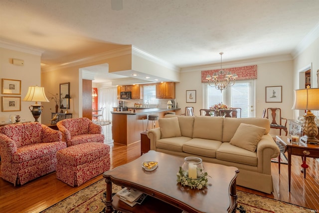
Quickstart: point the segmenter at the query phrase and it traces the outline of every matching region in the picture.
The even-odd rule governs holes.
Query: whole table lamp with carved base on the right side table
[[[304,115],[305,122],[302,127],[301,140],[306,143],[318,144],[318,128],[315,115],[311,110],[319,110],[319,88],[307,88],[295,90],[295,102],[292,109],[307,110]]]

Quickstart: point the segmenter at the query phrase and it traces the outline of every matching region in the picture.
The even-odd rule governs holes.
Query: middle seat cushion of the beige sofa
[[[216,150],[221,145],[220,141],[193,138],[183,145],[183,152],[215,158]]]

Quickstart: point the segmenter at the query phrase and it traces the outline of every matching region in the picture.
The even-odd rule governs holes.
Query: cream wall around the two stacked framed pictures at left
[[[19,49],[19,50],[12,50]],[[21,111],[14,112],[2,112],[2,97],[0,122],[9,122],[9,115],[20,115],[21,121],[34,121],[34,118],[29,110],[30,104],[35,102],[22,101],[28,91],[29,86],[42,86],[41,85],[41,69],[40,69],[40,51],[29,51],[28,49],[17,48],[14,46],[8,48],[0,47],[0,78],[1,78],[1,95],[0,96],[14,96],[21,97]],[[28,53],[33,52],[33,53]],[[12,64],[12,58],[20,59],[24,61],[23,66]],[[4,95],[2,94],[2,78],[21,80],[21,95]],[[44,109],[45,110],[45,109]],[[39,118],[41,122],[41,116]]]

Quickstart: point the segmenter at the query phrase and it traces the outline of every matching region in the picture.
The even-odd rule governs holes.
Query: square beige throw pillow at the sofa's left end
[[[180,128],[177,117],[160,118],[160,138],[180,137]]]

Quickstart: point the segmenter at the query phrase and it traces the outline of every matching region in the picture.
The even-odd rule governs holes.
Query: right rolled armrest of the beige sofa
[[[271,159],[279,154],[279,147],[271,135],[263,135],[257,144],[258,172],[271,175]]]

